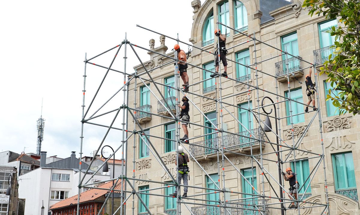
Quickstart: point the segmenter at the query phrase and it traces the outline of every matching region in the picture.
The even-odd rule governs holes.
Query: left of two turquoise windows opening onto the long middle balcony
[[[205,118],[205,126],[207,127],[212,127],[215,128],[212,124],[216,125],[217,124],[217,120],[216,120],[216,112],[212,112],[212,113],[208,113],[206,114],[206,117],[210,120],[207,120],[207,118]],[[212,123],[212,124],[211,124]],[[205,145],[207,147],[211,147],[211,148],[217,148],[217,134],[211,134],[213,133],[215,130],[210,129],[210,128],[205,128],[205,134],[208,134],[205,136]],[[209,148],[205,148],[206,154],[212,154],[215,153],[215,149],[209,149]]]

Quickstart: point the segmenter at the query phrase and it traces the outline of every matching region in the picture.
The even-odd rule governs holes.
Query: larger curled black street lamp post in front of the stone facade
[[[278,156],[278,170],[279,170],[279,189],[280,189],[280,198],[281,198],[281,202],[283,202],[283,189],[282,189],[282,176],[281,176],[281,168],[280,168],[280,162],[281,162],[281,160],[280,160],[280,155],[279,155],[279,151],[280,151],[280,149],[279,149],[279,134],[278,134],[278,123],[276,122],[276,120],[278,119],[277,118],[277,115],[276,115],[276,106],[275,106],[275,104],[274,104],[274,101],[273,101],[273,99],[271,99],[270,97],[264,97],[264,98],[262,98],[262,100],[261,100],[261,106],[262,106],[262,111],[264,111],[267,115],[270,115],[271,114],[271,112],[273,112],[273,109],[271,109],[270,110],[270,112],[266,112],[265,111],[265,109],[264,109],[264,99],[265,98],[267,98],[267,99],[269,99],[272,103],[273,103],[273,105],[274,105],[274,113],[275,113],[275,131],[276,131],[276,150],[278,151],[277,153],[276,153],[276,155]],[[264,126],[264,131],[265,132],[269,132],[269,131],[271,131],[271,122],[270,122],[270,118],[269,118],[269,116],[266,116],[266,119],[265,119],[265,126]],[[284,215],[284,204],[283,203],[281,203],[281,215]]]

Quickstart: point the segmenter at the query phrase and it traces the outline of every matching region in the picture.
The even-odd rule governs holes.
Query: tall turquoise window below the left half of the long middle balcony
[[[210,175],[211,179],[206,176],[206,188],[210,188],[210,189],[218,189],[219,187],[219,175],[215,174],[215,175]],[[213,182],[215,182],[215,185]],[[219,201],[219,192],[213,193],[214,191],[212,190],[207,190],[207,193],[211,193],[211,194],[207,194],[206,195],[206,200],[210,200],[207,202],[207,204],[209,205],[217,205],[217,202],[213,202],[213,201]],[[220,214],[220,208],[216,207],[216,206],[207,206],[206,208],[206,214],[210,215],[210,214]]]

